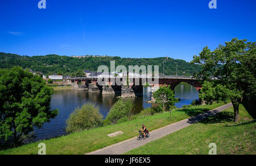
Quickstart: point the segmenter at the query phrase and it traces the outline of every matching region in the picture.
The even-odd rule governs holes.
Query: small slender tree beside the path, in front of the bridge
[[[156,92],[153,93],[156,103],[160,103],[163,107],[163,110],[170,109],[171,106],[174,106],[176,102],[179,102],[179,99],[175,98],[174,91],[171,90],[171,86],[164,85],[160,86]],[[171,117],[171,109],[170,109]]]

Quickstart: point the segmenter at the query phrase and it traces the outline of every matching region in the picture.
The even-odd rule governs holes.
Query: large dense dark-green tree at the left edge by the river
[[[13,138],[17,147],[20,136],[42,127],[59,111],[50,110],[53,90],[42,77],[20,67],[0,74],[0,138]]]

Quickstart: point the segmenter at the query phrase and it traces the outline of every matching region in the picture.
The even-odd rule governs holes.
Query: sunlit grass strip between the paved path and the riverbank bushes
[[[38,144],[46,144],[46,153],[50,154],[84,154],[104,148],[114,143],[121,142],[126,139],[133,138],[138,135],[138,130],[142,124],[152,131],[157,128],[167,126],[168,124],[181,121],[193,115],[203,113],[204,111],[214,109],[224,103],[213,103],[213,105],[195,106],[189,109],[180,109],[172,111],[171,119],[170,113],[155,114],[144,117],[139,117],[133,121],[114,124],[105,127],[94,128],[82,132],[76,132],[67,136],[53,138],[49,140],[42,140],[27,144],[18,148],[13,148],[6,151],[0,151],[1,154],[37,154]],[[124,134],[110,138],[107,134],[122,131]]]

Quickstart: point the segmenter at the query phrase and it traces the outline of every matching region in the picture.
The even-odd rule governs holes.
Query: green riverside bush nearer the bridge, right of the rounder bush
[[[129,117],[131,111],[133,110],[133,106],[133,102],[130,99],[127,101],[119,99],[110,109],[109,114],[105,119],[106,122],[104,122],[104,124],[108,124],[109,122],[115,124],[119,119]]]

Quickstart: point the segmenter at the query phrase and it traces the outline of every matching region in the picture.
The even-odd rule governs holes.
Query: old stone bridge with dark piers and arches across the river
[[[158,79],[158,81],[156,81]],[[121,84],[116,84],[116,82],[121,82]],[[77,77],[71,78],[72,85],[76,88],[82,88],[89,90],[89,92],[102,92],[102,94],[114,94],[121,93],[122,97],[137,96],[143,92],[143,85],[151,86],[152,92],[157,90],[159,86],[170,85],[171,89],[174,90],[175,86],[181,82],[187,82],[200,90],[202,88],[199,81],[193,79],[191,76],[160,76],[160,77],[145,77],[137,76],[129,78],[129,86],[126,84],[126,80],[123,78],[109,76],[109,77]],[[104,84],[98,84],[99,82],[104,82]]]

